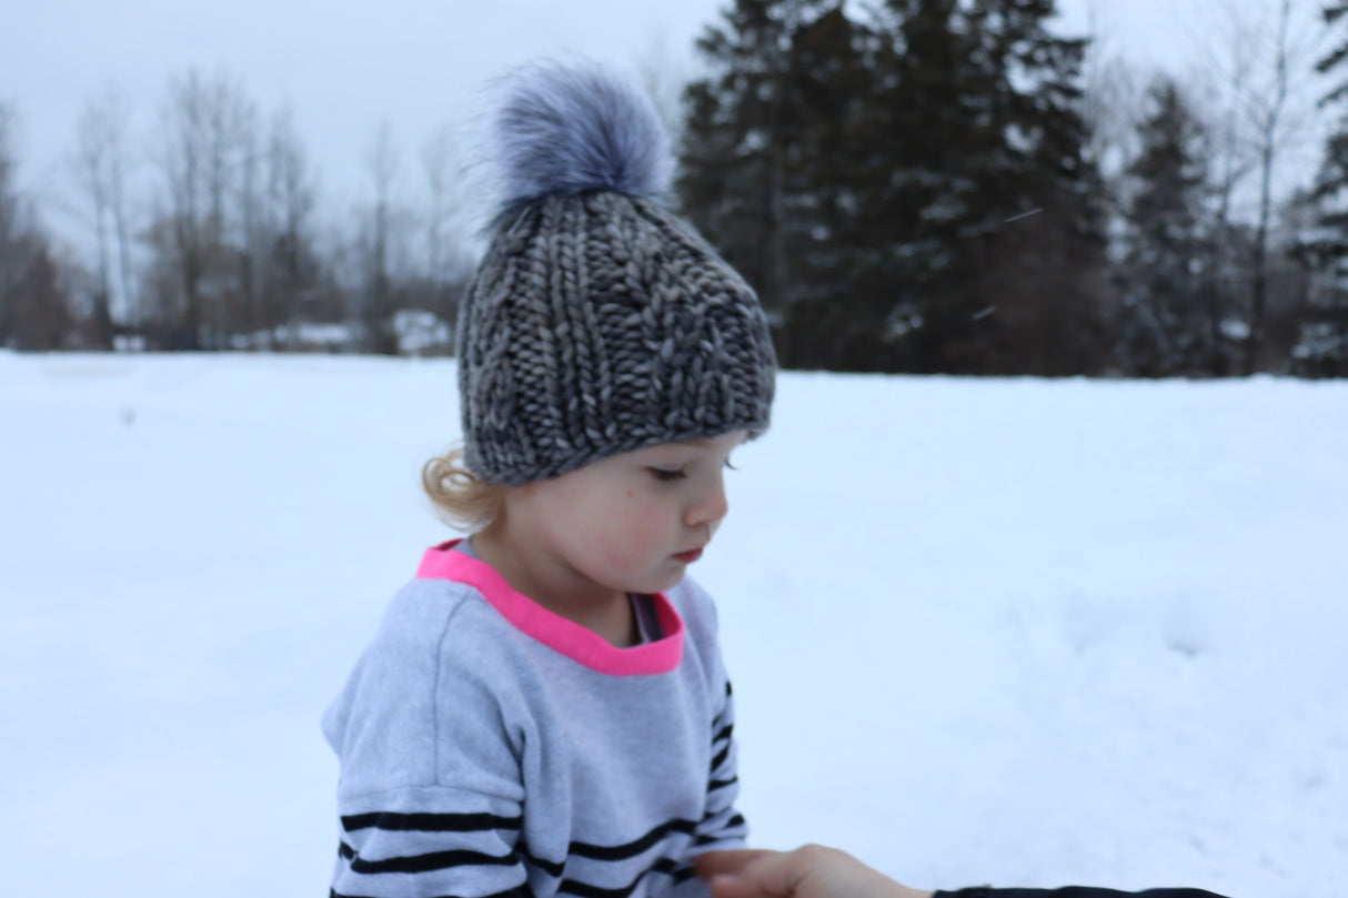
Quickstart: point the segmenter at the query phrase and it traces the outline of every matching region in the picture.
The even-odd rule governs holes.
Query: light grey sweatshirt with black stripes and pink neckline
[[[705,898],[694,858],[745,835],[710,597],[685,578],[659,638],[617,649],[454,545],[324,715],[332,895]]]

